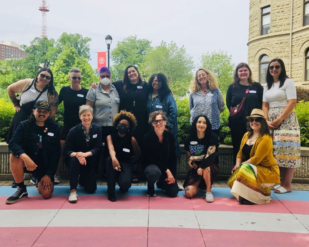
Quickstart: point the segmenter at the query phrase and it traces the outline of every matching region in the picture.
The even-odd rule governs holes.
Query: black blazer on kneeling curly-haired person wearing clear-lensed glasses
[[[175,138],[171,132],[164,130],[162,150],[161,143],[159,143],[159,137],[155,131],[144,134],[142,140],[142,156],[144,159],[144,169],[147,165],[155,164],[159,167],[162,173],[169,169],[173,176],[176,175],[177,159]]]

